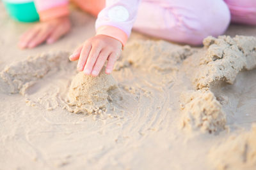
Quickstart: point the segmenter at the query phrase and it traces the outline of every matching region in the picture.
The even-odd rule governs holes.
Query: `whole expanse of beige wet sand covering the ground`
[[[31,24],[0,14],[0,169],[255,169],[255,27],[199,48],[133,32],[93,78],[68,55],[94,19],[71,19],[58,43],[19,50]]]

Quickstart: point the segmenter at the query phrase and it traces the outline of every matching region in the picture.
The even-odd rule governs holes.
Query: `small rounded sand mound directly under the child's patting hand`
[[[109,91],[116,89],[117,83],[113,76],[104,73],[99,76],[87,76],[83,72],[78,73],[72,80],[68,92],[68,104],[72,106],[69,111],[74,113],[99,113],[106,110]]]

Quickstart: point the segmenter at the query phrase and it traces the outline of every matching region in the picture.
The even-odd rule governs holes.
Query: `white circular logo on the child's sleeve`
[[[129,18],[129,11],[124,6],[114,6],[109,9],[108,17],[116,22],[125,22]]]

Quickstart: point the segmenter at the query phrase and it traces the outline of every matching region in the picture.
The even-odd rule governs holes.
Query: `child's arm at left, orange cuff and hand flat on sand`
[[[35,5],[40,23],[20,37],[20,48],[33,48],[44,41],[54,43],[70,30],[67,0],[35,0]]]

